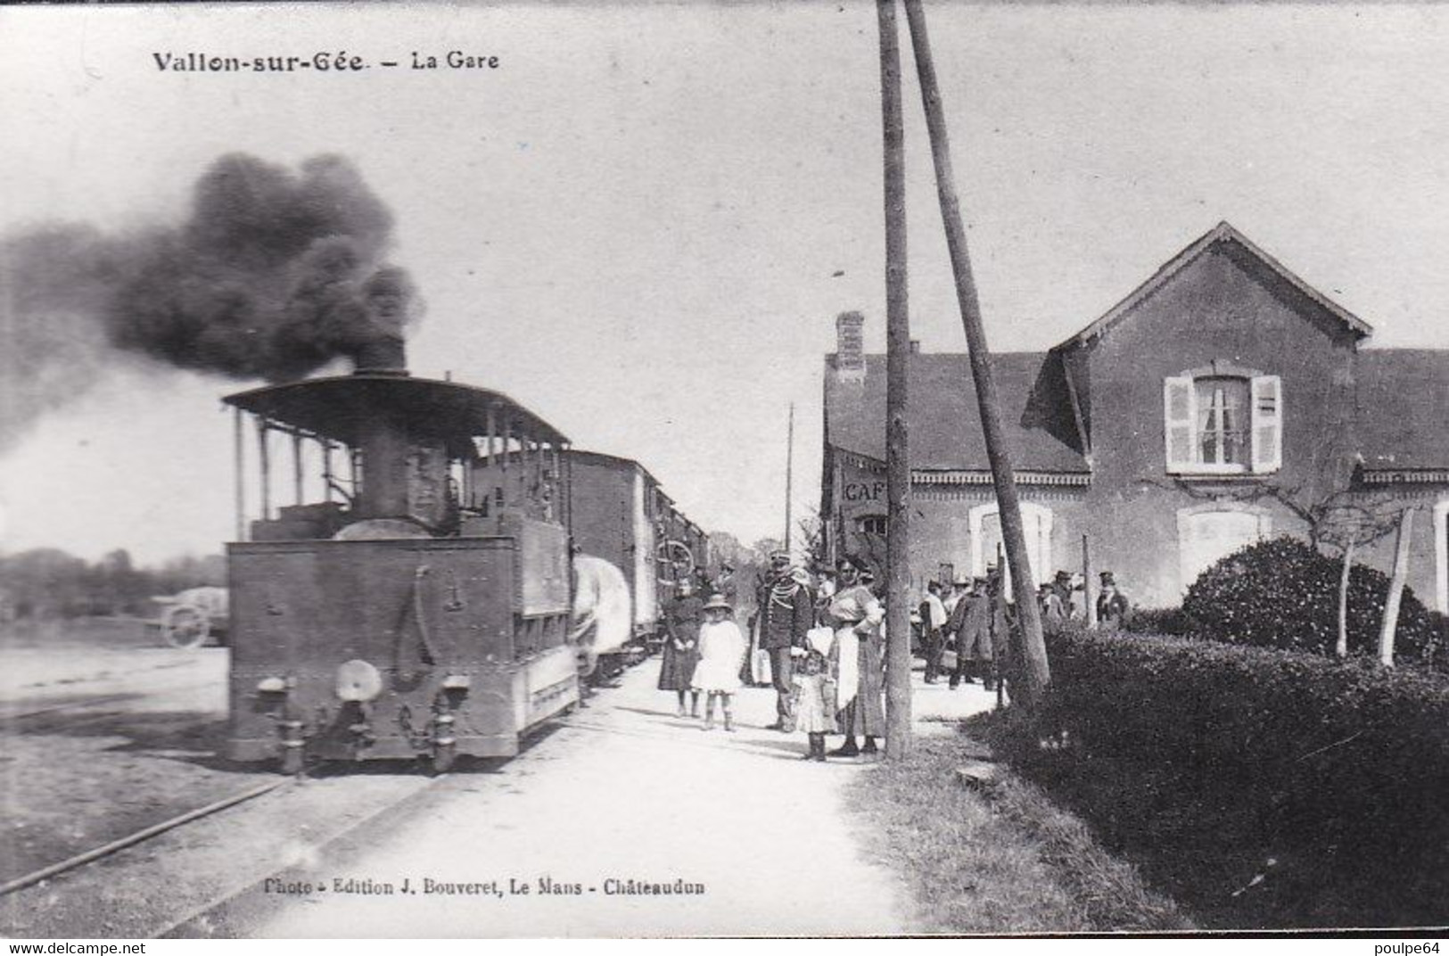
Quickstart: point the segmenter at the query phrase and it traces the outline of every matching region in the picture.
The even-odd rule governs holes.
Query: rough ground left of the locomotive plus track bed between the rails
[[[226,662],[138,621],[0,634],[0,881],[277,779],[216,756]],[[429,785],[390,763],[288,787],[0,898],[0,936],[162,933]]]

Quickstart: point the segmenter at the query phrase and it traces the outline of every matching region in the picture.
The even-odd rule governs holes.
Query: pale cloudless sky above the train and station
[[[1449,348],[1449,7],[926,9],[993,349],[1049,348],[1220,220],[1377,346]],[[901,30],[913,337],[961,351]],[[410,68],[451,49],[498,67]],[[156,68],[191,51],[401,67]],[[819,504],[835,316],[884,349],[877,56],[869,3],[4,7],[0,233],[175,223],[220,155],[341,154],[426,301],[414,374],[778,537],[791,403],[796,514]],[[0,455],[0,550],[217,552],[219,398],[254,384],[117,356]]]

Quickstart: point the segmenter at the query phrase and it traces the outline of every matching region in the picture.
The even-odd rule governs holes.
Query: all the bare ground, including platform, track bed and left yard
[[[216,758],[226,650],[158,649],[133,630],[0,640],[0,878],[274,779]],[[849,830],[842,792],[859,766],[800,762],[803,734],[762,729],[769,689],[738,695],[738,733],[703,733],[653,689],[656,668],[629,671],[513,760],[461,760],[436,781],[406,763],[349,768],[4,897],[0,934],[910,931],[903,886]],[[920,731],[991,703],[916,684]],[[327,889],[277,892],[277,875]],[[368,879],[397,892],[364,892]],[[429,894],[425,879],[478,892]],[[611,892],[630,879],[703,892]]]

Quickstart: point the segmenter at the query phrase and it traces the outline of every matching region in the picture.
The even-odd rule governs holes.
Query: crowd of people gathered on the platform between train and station
[[[1129,604],[1110,571],[1101,574],[1097,619],[1116,627]],[[775,552],[753,588],[755,611],[746,627],[735,620],[739,582],[723,565],[714,578],[696,576],[678,585],[667,605],[659,689],[678,698],[680,717],[700,717],[735,730],[732,701],[743,687],[775,692],[771,730],[804,733],[804,759],[855,758],[877,753],[885,734],[885,605],[869,568],[843,558],[814,574],[793,566]],[[1065,571],[1039,590],[1048,632],[1084,620],[1081,581]],[[948,676],[952,689],[980,681],[994,691],[1010,679],[1014,605],[1001,571],[984,578],[932,581],[911,619],[913,636],[926,661],[926,684]],[[955,650],[946,674],[945,653]],[[843,737],[826,750],[826,737]]]

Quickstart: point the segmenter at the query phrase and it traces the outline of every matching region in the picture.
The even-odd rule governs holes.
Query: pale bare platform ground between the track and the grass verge
[[[762,729],[774,718],[769,689],[738,695],[738,733],[704,733],[653,689],[656,668],[627,672],[494,772],[449,776],[412,801],[406,818],[390,813],[385,826],[354,830],[280,873],[281,886],[254,886],[178,934],[910,931],[904,888],[862,856],[843,813],[843,785],[864,765],[801,762],[803,734]],[[984,707],[980,689],[922,687],[916,697],[924,718]],[[703,892],[617,892],[630,879]],[[427,892],[439,884],[465,886]],[[367,892],[385,888],[391,895]]]

